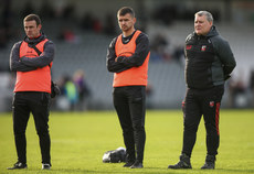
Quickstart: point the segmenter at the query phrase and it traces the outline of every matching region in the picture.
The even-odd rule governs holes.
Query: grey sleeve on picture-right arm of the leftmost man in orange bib
[[[21,62],[27,66],[44,67],[50,65],[54,59],[55,47],[52,41],[47,41],[44,45],[43,53],[38,57],[21,57]]]

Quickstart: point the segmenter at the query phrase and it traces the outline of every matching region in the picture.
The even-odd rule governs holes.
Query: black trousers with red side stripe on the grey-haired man
[[[203,116],[207,130],[207,153],[210,155],[218,154],[220,143],[219,116],[223,94],[223,85],[203,90],[187,89],[182,108],[184,118],[182,153],[191,156],[198,127]]]

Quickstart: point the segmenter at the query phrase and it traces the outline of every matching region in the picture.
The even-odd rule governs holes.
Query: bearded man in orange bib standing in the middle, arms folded
[[[114,73],[113,100],[123,129],[127,153],[124,167],[144,167],[146,142],[146,86],[150,56],[148,36],[134,28],[135,12],[124,7],[117,13],[123,33],[107,52],[107,68]]]

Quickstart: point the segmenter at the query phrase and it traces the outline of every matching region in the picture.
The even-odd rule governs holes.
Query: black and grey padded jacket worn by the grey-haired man
[[[223,85],[236,63],[229,43],[215,26],[205,35],[192,33],[186,40],[186,83],[189,88],[205,89]]]

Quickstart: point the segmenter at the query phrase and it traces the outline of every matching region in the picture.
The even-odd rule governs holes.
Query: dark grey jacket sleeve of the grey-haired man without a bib
[[[230,74],[233,72],[236,66],[234,55],[231,51],[230,44],[223,39],[219,39],[216,42],[216,53],[219,58],[222,62],[222,67],[224,72],[225,79],[230,77]]]

